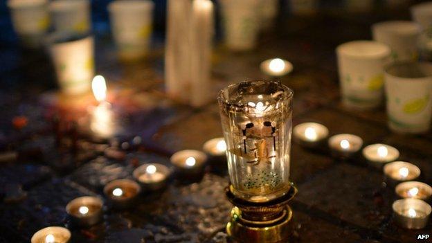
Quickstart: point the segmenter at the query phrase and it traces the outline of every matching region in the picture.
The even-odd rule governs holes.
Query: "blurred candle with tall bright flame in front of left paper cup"
[[[107,84],[102,75],[96,75],[91,82],[91,89],[99,105],[93,109],[91,114],[90,129],[98,138],[109,138],[116,132],[116,121],[114,119],[111,104],[106,101]]]

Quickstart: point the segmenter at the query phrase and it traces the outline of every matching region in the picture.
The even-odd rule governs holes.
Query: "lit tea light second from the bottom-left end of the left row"
[[[78,197],[69,201],[66,212],[80,226],[97,224],[102,217],[103,202],[98,197]]]

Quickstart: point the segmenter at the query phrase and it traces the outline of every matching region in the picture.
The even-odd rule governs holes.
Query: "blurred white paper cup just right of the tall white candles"
[[[222,0],[225,44],[235,51],[253,49],[260,30],[260,0]]]

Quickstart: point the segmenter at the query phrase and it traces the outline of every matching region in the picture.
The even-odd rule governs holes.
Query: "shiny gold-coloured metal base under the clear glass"
[[[292,229],[292,210],[288,202],[296,195],[291,185],[286,195],[262,203],[254,203],[233,195],[231,186],[226,188],[228,200],[234,204],[231,221],[226,232],[236,242],[279,243],[289,242]]]

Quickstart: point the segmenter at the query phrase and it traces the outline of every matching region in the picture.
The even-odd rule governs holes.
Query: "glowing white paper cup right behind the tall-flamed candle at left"
[[[93,37],[55,33],[48,42],[60,89],[71,95],[89,91],[95,75]]]

